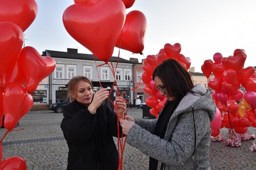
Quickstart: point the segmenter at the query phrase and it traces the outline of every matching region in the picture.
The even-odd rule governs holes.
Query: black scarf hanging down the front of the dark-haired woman
[[[158,117],[156,127],[154,130],[154,135],[160,137],[160,139],[164,139],[165,133],[167,130],[168,122],[172,116],[172,113],[180,103],[179,101],[167,101],[163,111],[161,112],[160,116]],[[149,169],[148,170],[156,170],[157,169],[158,160],[149,157]]]

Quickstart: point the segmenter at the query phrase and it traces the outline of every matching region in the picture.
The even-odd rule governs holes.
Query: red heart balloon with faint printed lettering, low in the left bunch
[[[13,105],[15,103],[15,105]],[[26,115],[33,106],[33,98],[27,94],[23,85],[13,83],[9,85],[3,96],[4,126],[12,130],[19,119]]]

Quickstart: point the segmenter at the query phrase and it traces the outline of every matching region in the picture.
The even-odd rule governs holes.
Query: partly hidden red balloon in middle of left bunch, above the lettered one
[[[5,89],[12,83],[18,83],[22,85],[26,84],[26,76],[22,70],[21,65],[18,64],[18,60],[14,60],[10,63],[4,73],[4,76],[0,77],[0,79],[2,82],[1,85]]]

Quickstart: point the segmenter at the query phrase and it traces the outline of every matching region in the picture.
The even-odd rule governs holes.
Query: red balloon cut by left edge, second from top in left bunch
[[[22,30],[14,23],[0,22],[0,30],[0,77],[3,77],[10,63],[17,60],[24,38]]]

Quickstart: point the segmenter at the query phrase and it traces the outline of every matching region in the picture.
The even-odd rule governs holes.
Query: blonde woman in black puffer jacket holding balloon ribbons
[[[67,170],[118,169],[118,152],[112,137],[118,137],[117,116],[102,104],[108,95],[107,88],[102,88],[92,96],[92,83],[85,76],[70,79],[69,104],[63,108],[61,122],[69,147]],[[122,116],[126,109],[124,99],[117,97],[116,104]],[[119,131],[121,137],[121,126]]]

